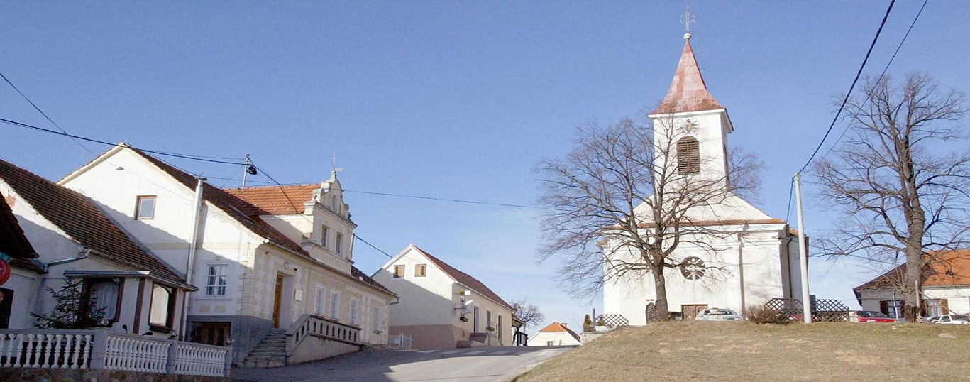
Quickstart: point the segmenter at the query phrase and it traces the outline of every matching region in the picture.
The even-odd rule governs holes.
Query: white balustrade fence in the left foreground
[[[228,376],[232,348],[105,330],[0,330],[0,366]]]

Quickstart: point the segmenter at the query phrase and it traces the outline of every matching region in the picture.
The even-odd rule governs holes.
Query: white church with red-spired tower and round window
[[[729,182],[727,136],[734,126],[727,108],[707,90],[691,37],[690,31],[684,35],[684,49],[670,88],[648,117],[655,126],[655,142],[676,141],[680,171]],[[663,123],[691,129],[673,137],[662,136],[665,133],[658,126]],[[683,150],[691,150],[697,158],[690,164],[681,163]],[[643,205],[638,208],[649,210]],[[671,317],[694,319],[698,312],[714,307],[743,314],[747,306],[774,298],[800,300],[798,237],[786,221],[769,216],[733,193],[718,206],[689,210],[688,215],[692,224],[717,235],[701,238],[700,245],[682,242],[669,257],[670,262],[681,265],[664,271]],[[615,253],[604,248],[607,263],[610,256],[618,256]],[[604,270],[604,313],[621,314],[630,325],[645,325],[647,306],[656,300],[649,272],[611,276]]]

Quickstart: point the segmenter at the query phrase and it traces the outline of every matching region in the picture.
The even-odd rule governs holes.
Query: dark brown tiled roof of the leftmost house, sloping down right
[[[3,160],[0,160],[0,177],[44,218],[92,250],[93,256],[129,269],[149,271],[170,281],[184,282],[182,276],[136,244],[83,195]]]

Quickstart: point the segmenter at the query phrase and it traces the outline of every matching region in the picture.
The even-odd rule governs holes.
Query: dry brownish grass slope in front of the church
[[[516,382],[665,380],[970,381],[970,325],[651,324],[603,336]]]

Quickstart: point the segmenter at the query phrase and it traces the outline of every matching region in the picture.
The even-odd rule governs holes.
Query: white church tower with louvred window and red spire
[[[654,125],[655,143],[669,147],[679,175],[699,174],[727,181],[727,134],[734,128],[727,109],[707,91],[691,47],[690,29],[684,34],[684,50],[670,88],[648,116]],[[658,158],[658,166],[663,165],[663,159]]]

